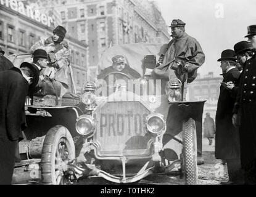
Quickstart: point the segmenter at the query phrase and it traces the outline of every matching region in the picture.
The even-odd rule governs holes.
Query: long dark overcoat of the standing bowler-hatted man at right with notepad
[[[233,81],[236,83],[241,73],[233,68],[223,75],[223,82]],[[217,159],[240,158],[239,132],[233,126],[233,107],[236,102],[231,90],[220,86],[216,112],[215,156]]]

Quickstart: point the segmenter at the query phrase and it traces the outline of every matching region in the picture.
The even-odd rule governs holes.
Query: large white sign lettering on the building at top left
[[[15,12],[19,12],[26,17],[29,17],[36,22],[43,23],[43,25],[51,26],[54,23],[52,17],[48,17],[46,14],[41,14],[39,10],[33,9],[33,7],[29,5],[24,5],[22,1],[18,0],[0,0],[1,6],[8,7]]]

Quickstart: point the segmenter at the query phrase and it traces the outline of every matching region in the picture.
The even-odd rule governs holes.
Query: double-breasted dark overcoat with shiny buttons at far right
[[[256,169],[256,56],[247,60],[240,79],[234,113],[241,115],[241,164]]]

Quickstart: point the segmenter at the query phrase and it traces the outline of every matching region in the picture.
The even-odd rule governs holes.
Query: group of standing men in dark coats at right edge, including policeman
[[[248,26],[248,41],[221,53],[220,96],[216,114],[215,156],[228,167],[223,184],[256,183],[256,25]]]

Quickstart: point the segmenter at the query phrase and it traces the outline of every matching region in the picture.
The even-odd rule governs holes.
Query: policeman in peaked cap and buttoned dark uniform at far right
[[[233,109],[233,124],[239,126],[245,181],[247,184],[256,184],[256,25],[248,26],[247,30],[245,37],[254,55],[244,65]]]

